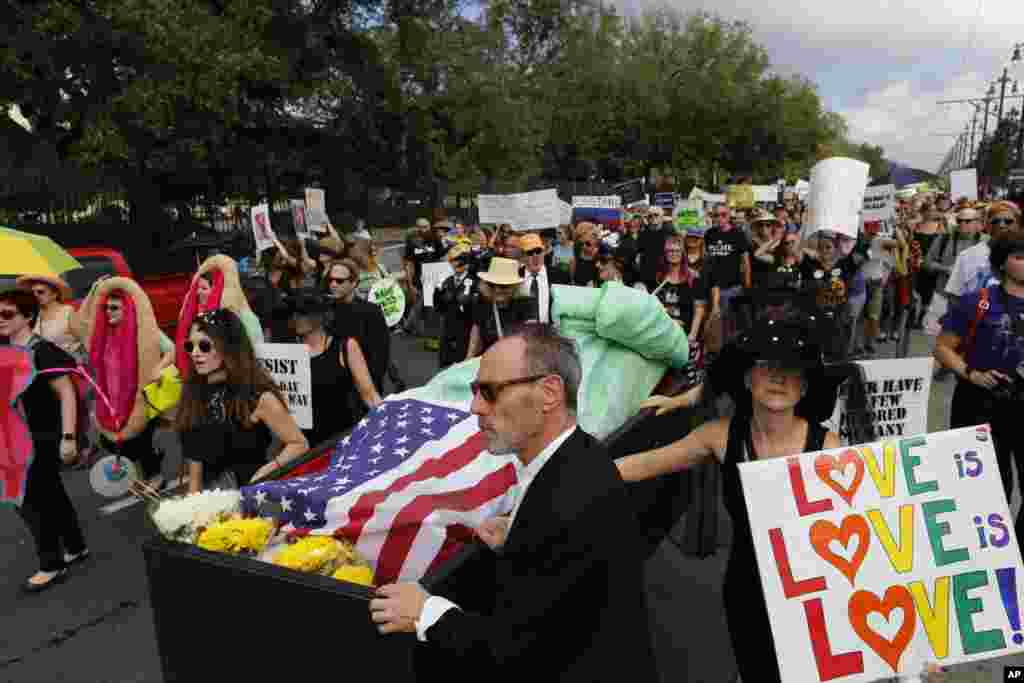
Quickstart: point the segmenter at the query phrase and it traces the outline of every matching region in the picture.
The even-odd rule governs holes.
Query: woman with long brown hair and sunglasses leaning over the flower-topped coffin
[[[309,450],[234,313],[220,309],[197,317],[184,349],[189,372],[174,429],[188,463],[189,493],[237,488]],[[267,463],[274,437],[282,447]]]

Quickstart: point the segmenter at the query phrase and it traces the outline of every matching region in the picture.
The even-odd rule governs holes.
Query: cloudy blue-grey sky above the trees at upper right
[[[1010,65],[1015,42],[1024,42],[1024,0],[614,2],[631,14],[668,5],[748,22],[774,68],[813,81],[825,106],[846,117],[855,141],[880,144],[888,159],[929,171],[974,114],[970,104],[938,100],[984,97]],[[1011,81],[1008,95],[1012,88]],[[1021,101],[1007,99],[1005,111]]]

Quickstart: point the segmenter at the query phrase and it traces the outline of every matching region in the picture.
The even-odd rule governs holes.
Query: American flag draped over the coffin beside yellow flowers
[[[378,585],[419,580],[472,540],[484,519],[512,510],[512,461],[486,452],[466,408],[385,400],[329,460],[244,487],[243,511],[272,510],[294,535],[355,544]]]

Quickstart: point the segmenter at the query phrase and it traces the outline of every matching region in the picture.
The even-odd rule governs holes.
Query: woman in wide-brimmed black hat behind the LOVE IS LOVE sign
[[[626,481],[702,463],[721,466],[724,502],[733,521],[723,594],[744,681],[778,681],[779,674],[737,466],[841,445],[821,423],[831,417],[840,385],[854,368],[825,366],[813,312],[774,314],[726,345],[709,371],[705,397],[729,395],[731,417],[708,422],[665,447],[615,461]]]

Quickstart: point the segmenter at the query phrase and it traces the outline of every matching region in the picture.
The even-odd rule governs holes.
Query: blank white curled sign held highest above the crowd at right
[[[811,191],[803,237],[831,230],[857,238],[870,166],[856,159],[833,157],[811,169]]]

